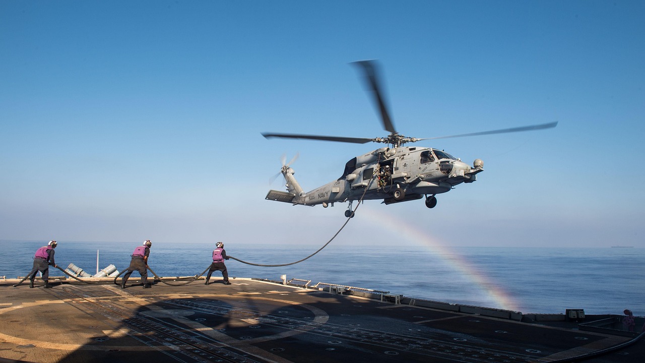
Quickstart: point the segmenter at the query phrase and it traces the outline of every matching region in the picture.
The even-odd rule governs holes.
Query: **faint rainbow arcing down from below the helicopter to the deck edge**
[[[427,247],[428,250],[439,257],[446,265],[452,267],[455,272],[464,276],[467,280],[475,285],[480,296],[473,298],[473,300],[486,300],[494,302],[497,308],[507,309],[511,311],[519,311],[518,304],[511,298],[504,289],[495,284],[488,276],[484,275],[482,271],[478,271],[459,253],[452,251],[448,246],[444,245],[437,238],[430,235],[427,231],[422,231],[418,225],[415,225],[408,220],[398,218],[393,214],[385,214],[375,211],[375,209],[363,208],[357,212],[359,216],[368,215],[373,220],[379,221],[379,227],[388,229],[389,231],[397,231],[401,235],[401,242],[411,242],[415,245]],[[473,291],[475,293],[475,291]]]

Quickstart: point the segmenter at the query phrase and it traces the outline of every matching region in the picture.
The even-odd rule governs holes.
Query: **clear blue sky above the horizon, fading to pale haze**
[[[645,247],[642,1],[2,1],[0,239],[321,245],[345,204],[264,200],[281,155],[306,190],[393,123],[477,182],[366,202],[337,244]],[[382,223],[384,219],[388,222]]]

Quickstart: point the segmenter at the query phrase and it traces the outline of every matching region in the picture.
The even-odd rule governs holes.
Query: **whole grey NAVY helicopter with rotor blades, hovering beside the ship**
[[[304,140],[337,141],[344,143],[376,143],[388,144],[388,147],[372,150],[361,156],[356,156],[347,161],[340,178],[317,187],[310,192],[295,180],[290,163],[284,163],[280,171],[286,180],[287,191],[270,190],[266,200],[292,203],[293,205],[323,205],[332,206],[333,203],[349,202],[345,211],[347,218],[352,218],[352,202],[355,200],[382,200],[384,204],[407,202],[425,198],[426,207],[434,208],[437,205],[437,194],[452,190],[455,185],[475,182],[477,174],[484,171],[484,162],[475,159],[470,166],[459,158],[448,154],[444,150],[429,147],[406,147],[406,143],[422,140],[436,140],[442,138],[458,138],[464,136],[480,136],[488,134],[501,134],[506,132],[520,132],[539,129],[550,129],[557,126],[556,122],[513,127],[511,129],[489,130],[439,136],[434,138],[410,138],[399,134],[394,128],[390,112],[383,98],[377,63],[373,60],[356,61],[364,74],[368,89],[372,91],[373,101],[379,110],[383,128],[390,132],[383,138],[349,138],[344,136],[322,136],[308,134],[277,134],[263,133],[264,138],[290,138]],[[295,160],[295,158],[294,158]],[[278,174],[279,175],[279,174]]]

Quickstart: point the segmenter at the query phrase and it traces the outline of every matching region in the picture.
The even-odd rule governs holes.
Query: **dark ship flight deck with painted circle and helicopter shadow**
[[[232,282],[0,285],[0,362],[551,362],[629,340]],[[642,362],[643,351],[638,342],[588,362]]]

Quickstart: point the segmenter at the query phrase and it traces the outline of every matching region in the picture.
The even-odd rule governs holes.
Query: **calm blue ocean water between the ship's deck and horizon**
[[[25,276],[43,242],[0,240],[0,276]],[[136,243],[59,241],[55,260],[94,275],[114,264],[128,267]],[[256,264],[287,264],[315,252],[312,245],[227,244],[226,252]],[[212,244],[152,245],[150,267],[159,276],[194,276],[210,264]],[[522,313],[645,315],[645,249],[642,248],[430,248],[333,245],[285,267],[226,262],[230,277],[299,278],[349,285],[411,298],[511,309]],[[59,275],[60,271],[54,275]],[[137,273],[134,273],[137,276]],[[219,272],[213,275],[221,278]],[[160,285],[159,288],[163,288]],[[0,298],[1,300],[1,298]]]

